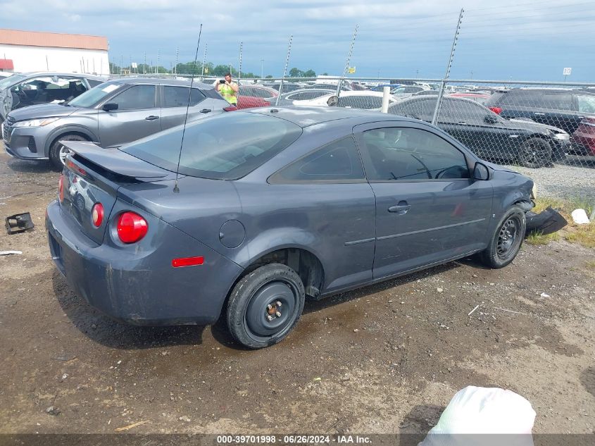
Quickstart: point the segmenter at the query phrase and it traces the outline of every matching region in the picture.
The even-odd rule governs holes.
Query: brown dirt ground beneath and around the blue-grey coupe
[[[467,385],[529,399],[534,433],[595,430],[594,249],[525,244],[499,271],[465,259],[307,303],[284,342],[248,351],[220,324],[89,307],[49,257],[58,174],[1,149],[0,216],[36,227],[0,235],[23,251],[0,256],[0,433],[425,433]]]

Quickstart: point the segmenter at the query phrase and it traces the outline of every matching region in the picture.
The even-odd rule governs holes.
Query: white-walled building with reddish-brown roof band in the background
[[[12,61],[12,63],[11,63]],[[109,74],[107,37],[0,29],[0,69]]]

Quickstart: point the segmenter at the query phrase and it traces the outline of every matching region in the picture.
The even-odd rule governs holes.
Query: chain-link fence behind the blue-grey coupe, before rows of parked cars
[[[384,87],[389,87],[388,113],[435,123],[480,158],[530,176],[546,196],[580,198],[595,204],[595,84],[242,80],[239,106],[253,106],[258,97],[277,106],[339,106],[380,112]]]

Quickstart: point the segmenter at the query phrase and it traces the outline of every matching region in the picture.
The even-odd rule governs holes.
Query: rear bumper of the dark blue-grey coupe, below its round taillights
[[[123,250],[93,242],[52,202],[46,216],[51,257],[78,295],[119,321],[150,326],[215,322],[242,268],[155,220],[150,224],[160,225],[159,237],[149,249]],[[204,256],[203,265],[171,264],[173,257],[196,255]]]

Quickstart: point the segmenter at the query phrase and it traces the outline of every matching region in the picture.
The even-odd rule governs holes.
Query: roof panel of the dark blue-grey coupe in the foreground
[[[405,118],[398,115],[389,115],[387,113],[379,113],[377,111],[360,110],[360,109],[344,109],[342,107],[320,107],[320,106],[271,106],[261,107],[258,109],[246,109],[242,112],[234,111],[234,113],[255,113],[265,116],[275,116],[288,120],[301,128],[310,127],[327,123],[334,120],[351,119],[354,122],[352,125],[372,123],[376,121],[411,121],[418,122],[414,119]]]

